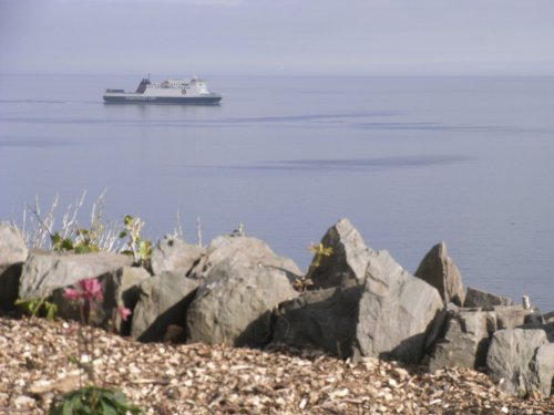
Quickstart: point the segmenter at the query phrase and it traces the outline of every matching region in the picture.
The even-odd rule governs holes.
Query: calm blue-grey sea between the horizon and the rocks
[[[306,270],[348,218],[410,272],[444,241],[465,286],[554,310],[554,77],[212,75],[220,105],[102,102],[141,77],[0,75],[0,220],[58,196],[61,226],[86,191],[86,227],[105,191],[154,241],[243,224]]]

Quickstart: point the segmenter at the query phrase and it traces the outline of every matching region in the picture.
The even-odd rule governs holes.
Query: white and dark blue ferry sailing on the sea
[[[167,80],[151,83],[150,75],[135,92],[106,90],[104,102],[110,104],[218,104],[222,95],[209,92],[204,80]]]

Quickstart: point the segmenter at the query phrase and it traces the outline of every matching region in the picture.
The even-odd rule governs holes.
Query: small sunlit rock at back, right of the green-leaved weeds
[[[166,236],[152,250],[152,271],[155,276],[163,272],[187,273],[205,251],[205,248]]]

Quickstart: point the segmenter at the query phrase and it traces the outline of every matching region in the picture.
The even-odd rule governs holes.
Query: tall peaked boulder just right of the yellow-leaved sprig
[[[366,246],[348,219],[340,219],[330,227],[321,245],[331,248],[332,253],[322,256],[319,266],[308,271],[314,289],[363,283],[369,258],[375,251]]]

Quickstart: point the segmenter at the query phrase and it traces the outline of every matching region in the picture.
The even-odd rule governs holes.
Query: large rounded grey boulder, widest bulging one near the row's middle
[[[225,259],[212,268],[188,308],[188,340],[264,345],[270,338],[271,310],[297,294],[280,268]]]

